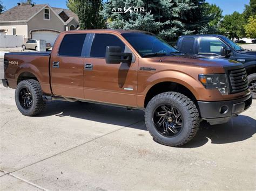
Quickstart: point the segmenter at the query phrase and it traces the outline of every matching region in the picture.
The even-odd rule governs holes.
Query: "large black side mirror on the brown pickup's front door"
[[[131,63],[132,53],[121,52],[120,46],[106,47],[106,63]]]

